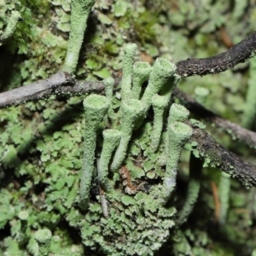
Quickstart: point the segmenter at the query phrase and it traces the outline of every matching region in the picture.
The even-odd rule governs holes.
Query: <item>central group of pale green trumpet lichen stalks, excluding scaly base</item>
[[[108,178],[109,172],[119,172],[133,131],[143,124],[148,109],[153,106],[154,124],[151,135],[152,152],[157,151],[163,131],[163,122],[172,90],[179,76],[175,73],[175,65],[165,58],[156,59],[154,66],[138,61],[133,64],[137,49],[136,44],[125,46],[123,62],[123,77],[121,80],[121,101],[117,111],[113,110],[113,79],[105,79],[106,96],[90,95],[84,99],[86,129],[84,134],[84,164],[81,170],[79,206],[86,210],[90,202],[91,178],[95,168],[96,132],[103,121],[108,119],[108,128],[103,131],[102,154],[97,164],[97,177],[101,191],[107,193],[113,189],[113,181]],[[148,85],[143,91],[143,82],[148,79]],[[166,90],[168,86],[168,90]],[[176,185],[177,162],[182,148],[192,134],[189,125],[184,124],[189,111],[181,105],[172,104],[169,111],[167,137],[164,153],[166,173],[163,185],[160,187],[159,202],[166,205],[172,196]],[[109,125],[110,124],[110,125]],[[101,195],[104,193],[102,192]],[[104,215],[108,216],[106,197],[101,197]]]

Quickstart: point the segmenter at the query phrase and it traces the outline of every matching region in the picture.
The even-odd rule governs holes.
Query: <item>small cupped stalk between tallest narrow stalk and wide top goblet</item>
[[[131,88],[131,98],[139,99],[141,96],[143,83],[148,79],[151,66],[146,61],[137,61],[133,65],[133,79]]]

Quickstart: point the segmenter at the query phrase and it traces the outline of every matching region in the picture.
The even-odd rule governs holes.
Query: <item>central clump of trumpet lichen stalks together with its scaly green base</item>
[[[92,94],[84,99],[79,207],[88,212],[79,227],[85,246],[100,246],[108,255],[153,255],[167,241],[175,225],[176,210],[168,202],[172,201],[176,186],[177,163],[192,134],[189,125],[184,124],[189,111],[170,103],[172,90],[179,80],[176,66],[164,58],[156,59],[153,67],[144,61],[134,63],[136,49],[136,44],[125,46],[118,104],[111,78],[104,80],[106,96]],[[148,84],[144,88],[146,80]],[[150,107],[154,111],[153,121]],[[156,155],[154,165],[161,162],[163,175],[155,174],[154,181],[143,175],[136,179],[132,168],[129,171],[124,166],[131,158],[131,143],[139,144],[147,125],[152,127],[148,129],[150,140],[145,146],[149,154],[143,155],[143,148],[141,157],[147,161],[150,155]],[[99,131],[102,131],[103,143],[96,161]],[[166,133],[165,139],[163,133]],[[99,190],[97,201],[90,198],[95,176]],[[143,189],[145,184],[149,189]]]

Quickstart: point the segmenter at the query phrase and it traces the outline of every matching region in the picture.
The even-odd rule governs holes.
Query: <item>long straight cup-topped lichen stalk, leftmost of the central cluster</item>
[[[80,181],[80,207],[88,207],[90,197],[91,178],[94,171],[96,131],[108,110],[108,100],[105,96],[90,95],[84,100],[85,134],[84,134],[84,162]]]

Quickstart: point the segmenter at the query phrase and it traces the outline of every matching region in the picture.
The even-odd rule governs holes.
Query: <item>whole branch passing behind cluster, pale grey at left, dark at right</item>
[[[182,77],[220,73],[253,56],[256,50],[256,32],[236,44],[228,51],[205,59],[188,59],[176,63],[176,73]],[[65,88],[61,88],[61,85]],[[72,87],[73,85],[74,87]],[[15,90],[0,93],[0,108],[17,106],[25,102],[38,100],[53,94],[89,93],[103,90],[101,82],[79,82],[65,72],[56,73],[49,79],[22,86]]]

